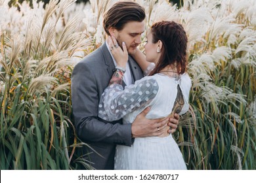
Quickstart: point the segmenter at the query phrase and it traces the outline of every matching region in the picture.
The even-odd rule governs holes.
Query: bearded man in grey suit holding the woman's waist
[[[119,45],[125,42],[129,54],[133,54],[140,44],[144,32],[144,8],[134,2],[118,2],[104,15],[104,29],[114,35]],[[117,46],[117,45],[116,45]],[[121,120],[106,122],[98,118],[98,103],[104,89],[113,75],[116,61],[110,53],[107,42],[77,63],[72,73],[72,106],[75,129],[81,141],[93,148],[84,148],[87,161],[95,169],[114,169],[116,144],[131,146],[135,137],[161,135],[168,125],[177,128],[175,119],[148,120],[146,108],[133,124],[122,124]],[[123,86],[133,84],[143,77],[136,61],[129,56]],[[177,117],[179,118],[179,117]],[[170,132],[170,131],[169,131]]]

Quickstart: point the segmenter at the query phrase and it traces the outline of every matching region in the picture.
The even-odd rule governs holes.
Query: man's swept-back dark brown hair
[[[108,29],[114,27],[121,31],[128,22],[142,22],[145,19],[145,10],[138,3],[132,1],[117,2],[105,14],[103,25],[106,33],[110,35]]]

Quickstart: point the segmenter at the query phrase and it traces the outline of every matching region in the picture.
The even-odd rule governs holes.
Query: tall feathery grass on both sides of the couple
[[[190,112],[174,135],[188,169],[256,169],[256,4],[152,2],[144,1],[147,27],[175,20],[188,33]],[[35,6],[42,16],[31,19],[19,7],[12,17],[20,22],[0,20],[0,169],[89,169],[72,124],[71,60],[104,42],[100,21],[111,3],[91,1],[83,33],[64,15],[72,3]]]

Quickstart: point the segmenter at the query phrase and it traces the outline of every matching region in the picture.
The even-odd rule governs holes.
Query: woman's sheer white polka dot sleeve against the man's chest
[[[147,107],[156,97],[158,90],[158,83],[153,78],[143,78],[135,84],[126,86],[125,90],[119,84],[112,84],[100,97],[98,117],[110,122],[119,120],[125,114]]]

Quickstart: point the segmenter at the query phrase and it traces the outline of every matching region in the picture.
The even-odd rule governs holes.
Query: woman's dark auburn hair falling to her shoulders
[[[153,43],[163,42],[160,60],[150,75],[159,73],[171,64],[175,65],[177,73],[186,73],[188,38],[182,25],[173,21],[156,22],[152,25],[150,32]]]

